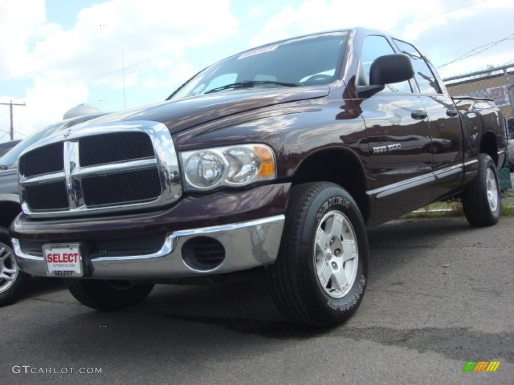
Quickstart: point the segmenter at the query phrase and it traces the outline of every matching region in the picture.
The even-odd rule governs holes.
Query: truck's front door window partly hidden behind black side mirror
[[[373,61],[379,56],[390,55],[392,53],[395,52],[387,38],[379,35],[370,35],[366,37],[362,45],[360,56],[358,85],[370,84],[371,63],[373,63]],[[399,83],[386,84],[386,88],[380,92],[412,93],[412,89],[408,81],[403,81]]]

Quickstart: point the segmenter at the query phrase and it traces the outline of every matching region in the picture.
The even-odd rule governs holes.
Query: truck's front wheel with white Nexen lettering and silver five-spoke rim
[[[334,183],[295,186],[277,261],[268,269],[273,300],[293,323],[334,326],[362,301],[368,236],[353,198]]]

